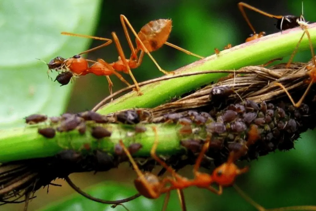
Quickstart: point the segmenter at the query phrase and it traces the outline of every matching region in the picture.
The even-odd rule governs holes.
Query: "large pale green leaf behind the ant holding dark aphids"
[[[53,83],[47,77],[47,65],[35,58],[48,62],[86,49],[90,40],[60,32],[93,34],[99,2],[1,1],[0,128],[22,125],[32,113],[51,116],[64,111],[72,85]]]

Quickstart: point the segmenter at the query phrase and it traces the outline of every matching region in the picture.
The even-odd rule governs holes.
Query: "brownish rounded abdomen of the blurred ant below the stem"
[[[141,178],[138,177],[134,181],[136,189],[141,195],[145,196],[146,198],[155,199],[155,196],[152,195],[151,192],[158,192],[157,188],[160,185],[159,178],[156,175],[149,172],[144,173],[143,176],[147,184],[144,184]],[[151,188],[152,191],[150,191],[149,188]]]

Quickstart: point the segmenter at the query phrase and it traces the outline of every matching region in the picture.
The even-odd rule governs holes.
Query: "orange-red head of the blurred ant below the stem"
[[[224,163],[213,171],[211,177],[213,182],[218,185],[227,186],[234,183],[235,177],[238,174],[239,169],[235,164]]]

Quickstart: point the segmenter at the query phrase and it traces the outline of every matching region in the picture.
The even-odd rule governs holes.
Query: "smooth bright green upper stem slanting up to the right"
[[[316,23],[310,24],[309,33],[312,42],[316,41]],[[178,69],[177,73],[208,71],[208,70],[233,70],[248,65],[264,64],[272,59],[281,58],[291,54],[300,39],[303,31],[294,28],[283,33],[270,34],[252,42],[243,43],[231,49],[221,51],[219,56],[211,55]],[[202,44],[201,44],[202,45]],[[309,48],[307,37],[304,36],[299,50]],[[210,52],[212,51],[210,47]],[[158,71],[158,70],[157,70]],[[175,78],[148,84],[141,87],[142,96],[130,92],[106,104],[98,110],[100,114],[108,114],[121,109],[153,108],[174,96],[180,96],[188,91],[209,84],[224,75],[224,73],[197,75],[185,78]]]

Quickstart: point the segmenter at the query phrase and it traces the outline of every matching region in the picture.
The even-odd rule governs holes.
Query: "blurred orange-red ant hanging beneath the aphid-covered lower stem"
[[[164,161],[162,161],[157,155],[156,155],[156,149],[159,143],[159,137],[157,133],[157,128],[152,127],[153,131],[155,133],[155,142],[154,145],[151,148],[150,155],[152,158],[154,158],[158,163],[161,164],[168,172],[171,173],[172,177],[165,177],[163,179],[159,179],[157,176],[155,176],[152,173],[146,172],[143,173],[138,168],[136,162],[132,158],[130,152],[125,147],[122,140],[119,141],[120,145],[122,146],[125,154],[129,158],[134,170],[136,171],[138,178],[134,181],[135,187],[138,190],[138,192],[149,199],[156,199],[161,194],[166,193],[166,198],[164,201],[164,206],[162,210],[165,210],[167,208],[167,203],[170,197],[170,191],[177,189],[179,192],[181,192],[183,189],[190,187],[190,186],[196,186],[198,188],[204,188],[208,189],[213,193],[216,193],[218,195],[222,194],[222,187],[223,186],[229,186],[234,183],[235,177],[245,173],[248,171],[248,167],[245,167],[243,169],[239,169],[235,164],[234,161],[238,159],[241,155],[241,153],[231,152],[230,156],[228,158],[228,161],[221,166],[217,167],[213,173],[207,174],[199,172],[198,169],[200,168],[202,159],[204,157],[204,153],[207,151],[210,145],[210,136],[207,137],[205,144],[203,145],[203,148],[196,160],[193,174],[194,178],[189,180],[185,177],[180,176],[173,170],[170,166],[168,166]],[[246,143],[245,149],[247,149],[247,146],[251,145],[256,141],[258,136],[258,128],[253,125],[253,127],[250,128],[248,132],[248,141]],[[170,183],[170,186],[166,186],[167,183]],[[211,186],[212,183],[216,183],[219,185],[219,189],[215,189]],[[185,207],[184,199],[183,197],[180,197],[180,202],[182,204],[182,210]]]

